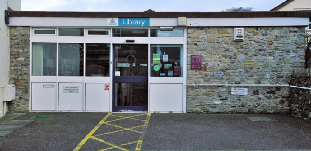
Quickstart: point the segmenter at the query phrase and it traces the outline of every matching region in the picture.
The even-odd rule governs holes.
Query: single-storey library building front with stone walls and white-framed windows
[[[10,12],[13,111],[288,113],[310,12]]]

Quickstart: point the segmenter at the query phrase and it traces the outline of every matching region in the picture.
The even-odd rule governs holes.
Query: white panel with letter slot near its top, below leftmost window
[[[32,83],[32,111],[56,111],[56,98],[56,83]]]

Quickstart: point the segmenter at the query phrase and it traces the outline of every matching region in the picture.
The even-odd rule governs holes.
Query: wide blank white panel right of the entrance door
[[[182,112],[183,84],[150,84],[150,112]]]

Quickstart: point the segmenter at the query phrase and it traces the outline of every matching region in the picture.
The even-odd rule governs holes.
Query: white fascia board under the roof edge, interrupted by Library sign
[[[107,18],[10,17],[9,26],[107,27]],[[150,18],[150,26],[177,26],[177,18]],[[187,18],[186,26],[309,26],[309,17]]]

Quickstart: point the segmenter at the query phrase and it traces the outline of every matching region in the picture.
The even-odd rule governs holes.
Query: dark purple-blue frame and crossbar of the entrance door
[[[112,111],[113,112],[147,112],[147,106],[116,106],[116,83],[148,83],[148,76],[115,76],[116,62],[115,62],[115,46],[123,44],[114,44],[112,52]],[[148,71],[146,71],[148,72]],[[146,98],[148,99],[148,98]]]

